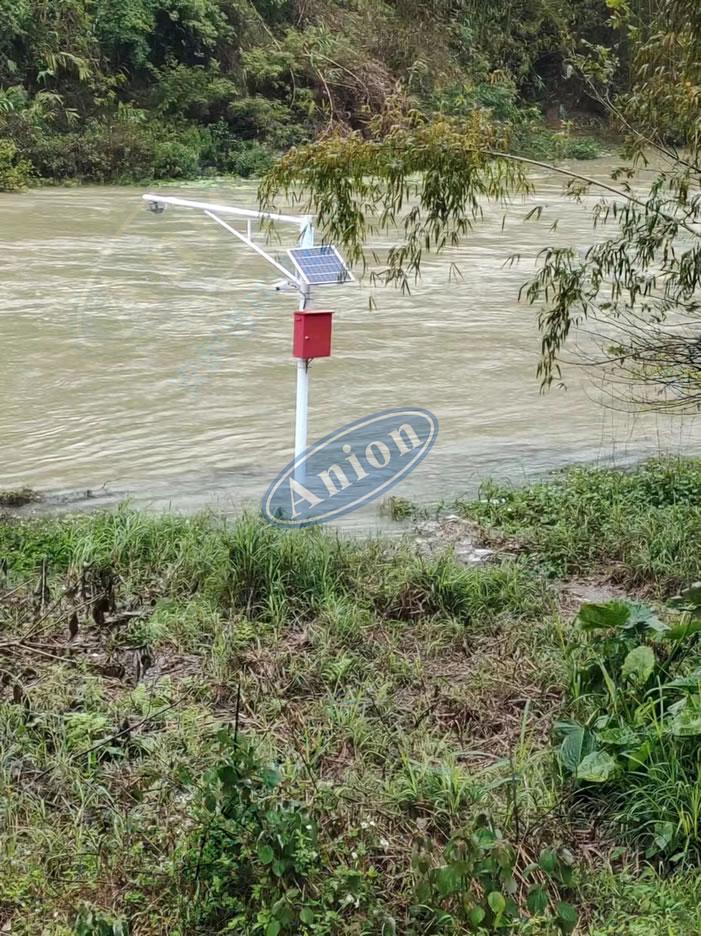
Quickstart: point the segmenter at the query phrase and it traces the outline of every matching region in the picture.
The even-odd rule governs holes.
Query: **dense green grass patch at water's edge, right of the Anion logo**
[[[697,459],[572,468],[522,488],[490,483],[457,509],[553,575],[604,574],[665,595],[701,578]]]

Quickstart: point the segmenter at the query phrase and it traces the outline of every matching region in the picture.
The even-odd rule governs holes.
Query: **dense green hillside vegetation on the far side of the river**
[[[255,174],[394,109],[486,108],[553,155],[592,105],[568,55],[615,45],[604,0],[0,0],[0,190]],[[625,50],[622,50],[625,58]]]

